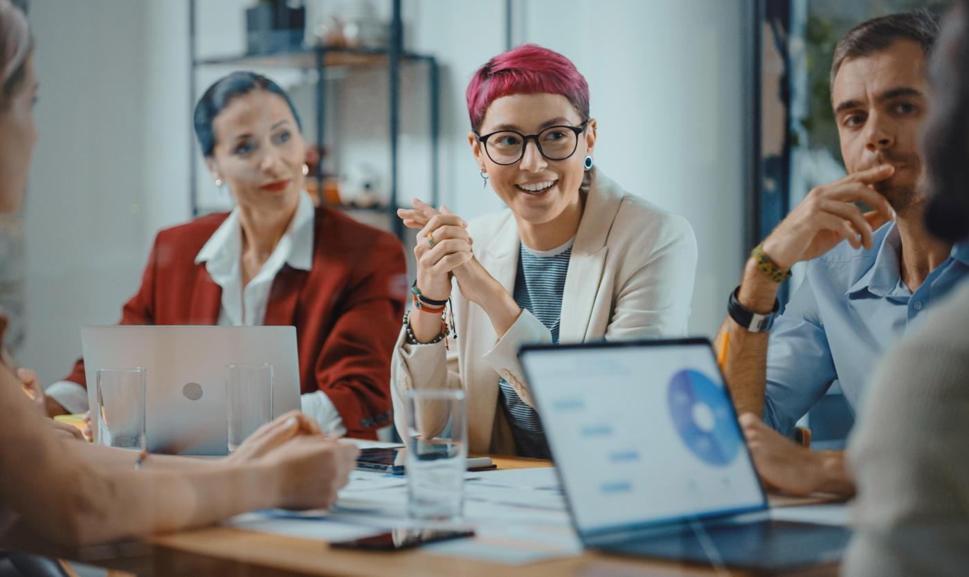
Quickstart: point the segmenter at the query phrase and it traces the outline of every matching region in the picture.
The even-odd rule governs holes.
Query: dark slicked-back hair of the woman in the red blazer
[[[254,90],[265,90],[271,94],[279,95],[290,106],[293,117],[297,121],[297,129],[302,130],[299,122],[299,114],[290,95],[279,87],[278,84],[253,72],[234,72],[227,76],[222,76],[208,87],[199,104],[195,106],[193,120],[195,123],[195,136],[199,138],[199,145],[202,147],[202,154],[205,157],[212,156],[215,150],[215,133],[212,131],[212,122],[219,112],[224,110],[233,99]]]

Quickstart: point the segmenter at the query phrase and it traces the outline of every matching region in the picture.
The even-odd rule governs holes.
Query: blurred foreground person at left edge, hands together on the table
[[[0,0],[0,212],[23,200],[37,133],[27,20]],[[229,458],[197,459],[65,440],[0,365],[0,542],[26,531],[83,545],[215,523],[266,507],[326,507],[347,483],[357,448],[328,440],[292,412]]]

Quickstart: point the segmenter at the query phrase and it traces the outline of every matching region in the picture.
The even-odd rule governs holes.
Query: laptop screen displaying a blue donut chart
[[[580,533],[766,506],[705,340],[526,348]]]

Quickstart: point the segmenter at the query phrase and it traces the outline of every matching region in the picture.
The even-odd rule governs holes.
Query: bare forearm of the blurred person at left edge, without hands
[[[136,471],[134,454],[59,440],[17,386],[0,370],[0,501],[42,537],[78,545],[171,531],[279,499],[274,471],[203,462],[153,471],[153,457]]]

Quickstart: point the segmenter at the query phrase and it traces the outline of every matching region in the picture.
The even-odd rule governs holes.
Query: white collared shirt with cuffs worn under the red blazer
[[[242,227],[239,209],[216,228],[196,256],[196,263],[205,263],[208,275],[222,289],[222,306],[217,324],[220,326],[259,326],[266,319],[269,291],[276,274],[284,264],[308,271],[313,265],[313,203],[306,195],[299,196],[297,212],[289,227],[266,258],[263,268],[242,287]],[[59,380],[47,387],[47,395],[66,410],[87,410],[87,392],[77,382]],[[346,428],[340,413],[323,391],[306,393],[300,397],[302,411],[315,418],[329,434],[344,435]]]

